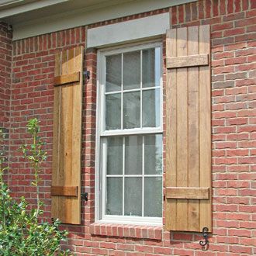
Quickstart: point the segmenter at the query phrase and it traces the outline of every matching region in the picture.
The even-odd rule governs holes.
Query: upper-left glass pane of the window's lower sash
[[[108,138],[107,174],[123,174],[123,137]]]

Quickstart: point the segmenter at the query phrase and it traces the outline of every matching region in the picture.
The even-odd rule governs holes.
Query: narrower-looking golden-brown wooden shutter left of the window
[[[81,223],[81,105],[83,47],[55,57],[52,217]]]

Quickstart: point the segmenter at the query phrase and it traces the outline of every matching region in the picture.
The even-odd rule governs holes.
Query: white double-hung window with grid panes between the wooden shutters
[[[99,221],[161,223],[161,56],[160,43],[99,51]]]

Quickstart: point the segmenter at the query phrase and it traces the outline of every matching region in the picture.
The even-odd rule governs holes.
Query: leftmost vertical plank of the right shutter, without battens
[[[177,29],[170,29],[166,38],[166,56],[177,56]],[[176,168],[177,168],[177,75],[176,70],[167,71],[166,85],[166,171],[165,185],[176,186]],[[165,230],[176,229],[176,200],[165,199]]]

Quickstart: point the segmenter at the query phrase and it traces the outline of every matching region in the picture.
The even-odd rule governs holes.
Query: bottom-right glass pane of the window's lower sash
[[[144,180],[144,216],[162,216],[162,178],[146,177]]]

